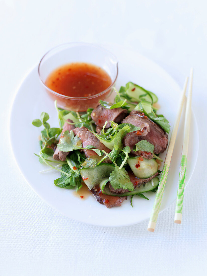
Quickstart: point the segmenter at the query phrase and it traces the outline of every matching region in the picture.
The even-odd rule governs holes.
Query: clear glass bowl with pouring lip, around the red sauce
[[[45,81],[56,68],[72,62],[91,63],[103,68],[112,79],[112,84],[99,94],[87,97],[70,97],[59,94],[46,86]],[[48,51],[40,60],[38,74],[46,92],[61,108],[73,111],[86,111],[95,108],[99,100],[111,100],[113,86],[118,75],[118,61],[108,50],[89,43],[67,43]]]

